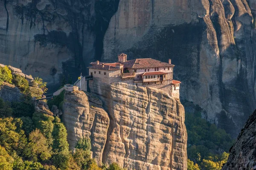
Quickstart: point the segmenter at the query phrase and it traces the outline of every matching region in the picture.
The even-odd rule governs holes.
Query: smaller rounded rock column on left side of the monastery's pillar
[[[108,113],[102,102],[82,91],[65,91],[62,120],[67,128],[67,140],[74,150],[79,139],[91,139],[92,156],[98,164],[102,160],[109,126]]]

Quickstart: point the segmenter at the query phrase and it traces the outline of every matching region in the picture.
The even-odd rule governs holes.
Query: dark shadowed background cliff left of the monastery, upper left
[[[61,74],[73,79],[81,71],[86,74],[116,11],[115,1],[2,0],[0,63],[55,86]]]

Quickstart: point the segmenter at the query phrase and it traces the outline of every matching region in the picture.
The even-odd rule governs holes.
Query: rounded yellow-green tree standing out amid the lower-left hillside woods
[[[29,134],[29,143],[26,147],[26,156],[33,161],[46,161],[51,157],[51,148],[47,143],[47,139],[40,132],[40,130],[33,130]]]

